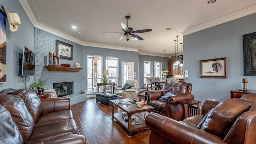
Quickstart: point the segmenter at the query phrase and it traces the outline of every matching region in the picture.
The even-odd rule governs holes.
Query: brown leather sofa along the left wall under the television
[[[0,92],[0,143],[85,144],[70,110],[70,98],[40,100],[33,90]]]

